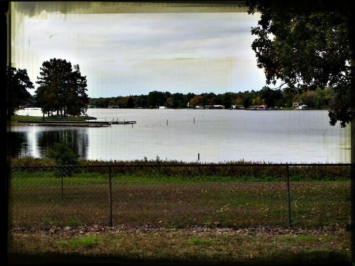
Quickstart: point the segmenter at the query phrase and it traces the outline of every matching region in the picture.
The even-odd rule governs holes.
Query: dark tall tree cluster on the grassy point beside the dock
[[[61,116],[84,114],[89,97],[86,94],[86,76],[81,76],[79,65],[62,59],[50,59],[40,67],[37,77],[36,104],[44,113],[57,111]]]

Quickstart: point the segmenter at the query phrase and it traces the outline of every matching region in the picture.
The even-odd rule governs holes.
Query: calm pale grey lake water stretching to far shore
[[[41,116],[40,110],[19,115]],[[63,137],[82,159],[196,162],[350,163],[350,126],[329,125],[326,110],[88,109],[108,128],[11,127],[11,157],[43,158]],[[194,123],[195,119],[195,123]],[[167,125],[168,120],[168,125]]]

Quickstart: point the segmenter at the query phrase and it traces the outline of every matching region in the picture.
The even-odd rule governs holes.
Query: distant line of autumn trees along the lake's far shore
[[[329,108],[334,102],[335,92],[331,87],[324,90],[316,88],[306,92],[295,93],[294,90],[274,90],[264,87],[259,91],[226,92],[223,94],[182,94],[153,91],[148,95],[118,96],[110,98],[91,98],[89,105],[106,108],[108,105],[118,105],[119,108],[156,108],[166,106],[169,108],[194,108],[197,105],[224,105],[231,108],[232,105],[266,104],[269,107],[293,107],[295,103],[308,105],[310,108]]]

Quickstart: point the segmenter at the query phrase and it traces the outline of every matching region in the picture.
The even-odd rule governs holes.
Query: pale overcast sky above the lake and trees
[[[265,86],[250,48],[258,13],[53,12],[39,18],[25,17],[12,43],[13,66],[27,68],[33,82],[44,61],[61,58],[80,66],[92,98]]]

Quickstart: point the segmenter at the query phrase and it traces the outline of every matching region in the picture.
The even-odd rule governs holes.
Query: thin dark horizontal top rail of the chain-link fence
[[[63,165],[63,166],[11,166],[12,169],[26,169],[26,168],[58,168],[58,167],[72,167],[72,168],[89,168],[89,167],[216,167],[216,166],[230,166],[230,167],[259,167],[259,166],[352,166],[352,164],[139,164],[139,165]]]

